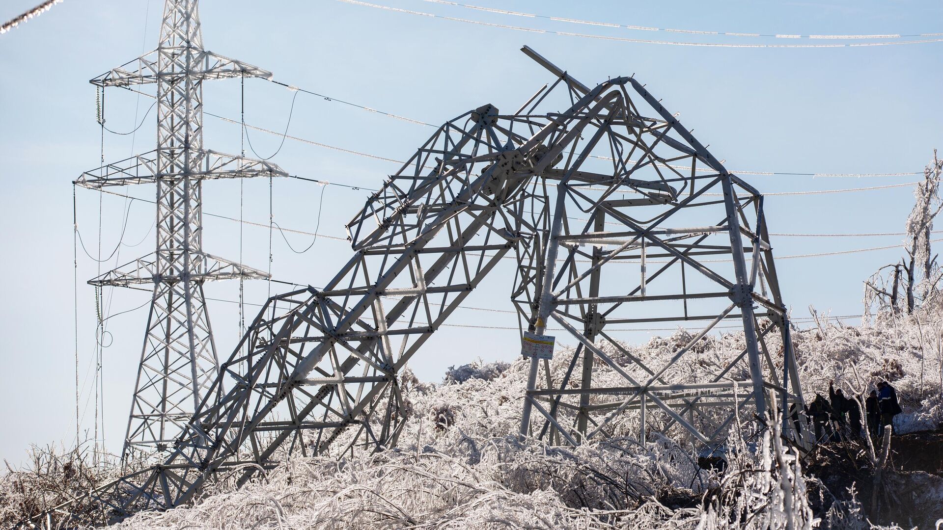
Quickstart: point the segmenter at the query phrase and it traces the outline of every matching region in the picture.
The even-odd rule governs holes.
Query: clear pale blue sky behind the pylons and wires
[[[469,0],[471,1],[471,0]],[[8,0],[0,19],[31,8],[38,0]],[[501,25],[662,41],[812,43],[810,40],[720,38],[573,25],[544,18],[438,5],[420,0],[374,3]],[[938,32],[943,5],[924,2],[497,2],[475,5],[561,18],[725,32],[771,34],[919,34]],[[0,157],[7,168],[0,191],[0,457],[19,462],[30,442],[74,439],[75,335],[73,187],[82,171],[98,167],[101,130],[95,123],[95,91],[88,80],[156,46],[162,2],[158,0],[66,0],[40,17],[0,36]],[[587,85],[607,76],[631,75],[681,112],[681,120],[733,170],[783,173],[918,172],[935,147],[943,146],[939,97],[943,42],[860,48],[708,48],[605,41],[509,30],[486,25],[389,12],[336,0],[316,2],[204,0],[207,49],[240,58],[274,73],[282,82],[331,97],[439,124],[469,108],[492,103],[517,108],[549,79],[518,50],[529,44]],[[245,119],[283,130],[292,92],[261,80],[245,84]],[[107,161],[154,148],[155,116],[144,117],[151,100],[118,89],[106,96],[107,125],[134,135],[106,133]],[[239,120],[240,83],[207,83],[207,112]],[[137,115],[137,119],[135,118]],[[208,148],[238,153],[237,125],[206,117]],[[432,132],[409,124],[299,94],[289,134],[379,157],[404,159]],[[267,157],[279,138],[250,131],[259,155]],[[247,147],[248,150],[248,147]],[[248,153],[252,156],[252,153]],[[377,186],[396,164],[356,157],[298,141],[286,141],[273,158],[292,174],[367,188]],[[835,190],[898,184],[916,175],[811,177],[745,175],[763,192]],[[127,190],[153,199],[153,187]],[[273,182],[276,223],[343,236],[345,224],[362,206],[366,192],[297,180]],[[243,216],[267,224],[268,181],[241,187]],[[101,199],[101,202],[100,202]],[[79,189],[77,224],[87,250],[108,257],[101,272],[153,250],[153,206]],[[212,182],[205,188],[205,212],[240,215],[240,184]],[[767,201],[774,233],[900,232],[912,205],[910,188],[815,195],[772,195]],[[101,215],[99,216],[99,207]],[[126,226],[124,219],[126,215]],[[205,219],[207,252],[240,256],[239,225]],[[123,230],[124,228],[124,230]],[[122,233],[124,231],[124,239]],[[297,250],[310,238],[286,234]],[[135,243],[139,243],[137,246]],[[242,259],[268,268],[269,230],[242,231]],[[900,237],[773,239],[777,256],[795,256],[897,244]],[[343,242],[322,239],[295,254],[273,234],[273,275],[318,286],[349,256]],[[861,312],[862,280],[895,260],[900,250],[834,257],[781,259],[782,288],[795,317],[808,306],[835,315]],[[85,280],[99,270],[81,247],[77,260],[77,351],[83,430],[94,428],[95,297]],[[509,309],[511,278],[495,271],[469,305]],[[248,285],[246,301],[259,303],[285,286]],[[119,451],[134,385],[148,295],[134,290],[103,293],[110,346],[104,349],[99,438]],[[207,296],[233,301],[238,284],[207,285]],[[251,307],[251,306],[250,306]],[[238,310],[211,301],[210,318],[220,356],[238,338]],[[122,311],[129,311],[118,314]],[[254,311],[249,310],[250,318]],[[473,309],[455,313],[453,323],[513,326],[512,315]],[[857,321],[851,320],[856,323]],[[639,333],[638,340],[651,334]],[[473,338],[473,340],[470,340]],[[510,360],[518,354],[516,332],[443,328],[414,357],[413,369],[439,380],[444,369],[475,357]]]

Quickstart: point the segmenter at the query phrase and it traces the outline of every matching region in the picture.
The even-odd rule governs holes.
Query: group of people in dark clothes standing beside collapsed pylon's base
[[[894,433],[894,416],[901,413],[901,404],[897,399],[897,390],[887,381],[880,381],[876,390],[871,390],[863,401],[846,397],[841,389],[835,389],[835,381],[829,381],[829,398],[816,392],[816,398],[808,406],[807,412],[815,424],[816,440],[838,441],[857,439],[867,432],[871,437],[884,436],[886,426]],[[862,407],[867,422],[861,422]]]

